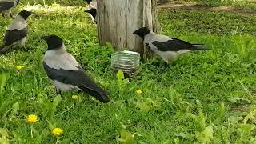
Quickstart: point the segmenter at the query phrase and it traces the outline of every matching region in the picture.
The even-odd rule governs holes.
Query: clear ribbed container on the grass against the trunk
[[[111,55],[111,68],[122,70],[126,74],[134,74],[139,67],[140,54],[134,51],[118,51]]]

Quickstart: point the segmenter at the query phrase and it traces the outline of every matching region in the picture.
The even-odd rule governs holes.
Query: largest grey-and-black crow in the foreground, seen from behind
[[[66,52],[62,38],[56,35],[42,37],[47,42],[48,49],[43,58],[43,67],[46,74],[56,87],[58,94],[61,91],[82,90],[97,98],[100,102],[110,102],[108,93],[98,86],[76,59]]]

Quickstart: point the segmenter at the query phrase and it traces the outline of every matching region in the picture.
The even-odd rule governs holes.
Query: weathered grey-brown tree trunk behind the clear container
[[[147,53],[135,30],[148,27],[160,30],[156,0],[98,0],[98,38],[101,45],[111,42],[116,50]]]

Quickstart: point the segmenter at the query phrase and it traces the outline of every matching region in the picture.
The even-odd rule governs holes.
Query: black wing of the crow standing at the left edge
[[[28,27],[22,29],[22,30],[6,30],[5,37],[3,38],[4,46],[10,46],[14,42],[17,42],[21,40],[22,38],[25,38],[28,34]]]

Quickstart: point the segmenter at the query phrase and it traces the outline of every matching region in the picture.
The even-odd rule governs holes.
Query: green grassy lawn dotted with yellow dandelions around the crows
[[[138,75],[118,81],[110,70],[113,47],[98,46],[85,3],[34,1],[22,2],[15,12],[25,6],[37,13],[28,19],[30,51],[0,56],[0,143],[54,143],[54,127],[64,130],[60,143],[256,142],[254,16],[160,10],[163,34],[213,50],[186,54],[168,68],[158,58],[146,59]],[[9,23],[0,19],[1,40]],[[65,39],[67,50],[110,91],[112,102],[102,104],[76,91],[55,94],[42,69],[45,34]],[[29,114],[38,115],[33,126],[26,122]]]

